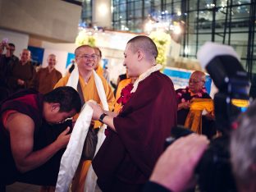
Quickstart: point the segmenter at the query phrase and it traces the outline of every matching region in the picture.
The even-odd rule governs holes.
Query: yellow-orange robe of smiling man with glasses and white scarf
[[[54,88],[65,86],[67,84],[69,76],[70,75],[66,75],[61,80],[59,80],[57,82],[57,85],[55,85]],[[105,78],[102,75],[99,75],[99,77],[103,81],[103,87],[106,93],[109,111],[112,111],[115,104],[114,94],[112,92],[111,87],[107,84],[107,80],[105,80]],[[80,80],[80,86],[83,92],[85,102],[89,101],[90,99],[94,99],[94,101],[102,105],[102,103],[100,102],[100,98],[98,97],[98,92],[97,92],[97,88],[94,81],[94,74],[91,75],[88,83],[85,83],[85,80],[83,80],[81,76],[79,76],[79,80]],[[78,115],[76,116],[76,118],[77,117]],[[102,123],[100,121],[94,121],[94,128],[98,126],[102,126]],[[89,160],[87,161],[80,160],[80,163],[77,167],[77,170],[75,172],[75,176],[72,182],[72,188],[71,188],[72,191],[84,192],[85,178],[87,175],[87,171],[89,170],[90,164],[91,164],[91,161]]]

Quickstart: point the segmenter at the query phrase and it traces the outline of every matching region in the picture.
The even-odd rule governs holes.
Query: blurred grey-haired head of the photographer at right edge
[[[256,101],[238,121],[231,134],[231,164],[239,191],[256,191]]]

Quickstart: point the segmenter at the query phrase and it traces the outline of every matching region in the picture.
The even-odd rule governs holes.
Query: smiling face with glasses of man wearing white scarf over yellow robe
[[[82,71],[93,71],[97,62],[97,56],[94,48],[81,47],[75,51],[75,62],[78,69]]]

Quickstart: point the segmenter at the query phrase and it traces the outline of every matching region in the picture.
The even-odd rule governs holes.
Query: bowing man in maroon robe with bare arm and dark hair
[[[1,103],[0,191],[15,181],[56,185],[70,137],[66,126],[71,126],[59,122],[80,112],[80,107],[80,96],[71,87],[45,95],[25,89]]]

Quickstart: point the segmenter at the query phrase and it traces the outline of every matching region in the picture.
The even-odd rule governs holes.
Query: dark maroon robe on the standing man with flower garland
[[[117,133],[109,130],[93,160],[103,191],[140,191],[176,126],[176,93],[171,79],[153,72],[114,118]]]

